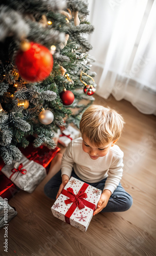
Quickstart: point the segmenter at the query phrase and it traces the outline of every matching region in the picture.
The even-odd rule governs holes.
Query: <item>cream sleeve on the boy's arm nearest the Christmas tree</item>
[[[70,179],[73,164],[74,164],[74,161],[73,161],[73,158],[72,158],[72,142],[70,142],[69,145],[66,148],[65,153],[63,154],[63,157],[62,157],[61,177],[63,175],[67,175]]]

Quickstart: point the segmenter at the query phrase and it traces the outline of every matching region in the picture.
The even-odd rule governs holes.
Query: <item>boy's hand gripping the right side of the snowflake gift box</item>
[[[100,200],[98,201],[97,208],[93,212],[93,216],[95,214],[98,214],[98,212],[100,212],[103,208],[106,207],[106,205],[108,204],[108,201],[110,199],[110,196],[111,196],[111,191],[110,190],[108,190],[108,189],[103,190],[103,192],[101,194],[101,197],[100,197]]]

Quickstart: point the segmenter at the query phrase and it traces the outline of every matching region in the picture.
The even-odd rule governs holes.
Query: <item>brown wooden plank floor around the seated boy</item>
[[[9,200],[17,216],[9,222],[9,251],[3,251],[4,230],[0,230],[1,253],[7,256],[143,256],[155,252],[155,116],[144,115],[126,100],[95,95],[96,104],[111,106],[126,122],[117,145],[124,152],[122,186],[134,203],[124,212],[99,213],[87,232],[55,218],[43,188],[52,174],[32,193],[20,191]]]

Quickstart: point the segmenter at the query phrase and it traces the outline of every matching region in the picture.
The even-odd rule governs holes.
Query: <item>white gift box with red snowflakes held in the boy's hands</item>
[[[51,207],[51,211],[56,218],[86,231],[101,192],[100,189],[71,177]]]

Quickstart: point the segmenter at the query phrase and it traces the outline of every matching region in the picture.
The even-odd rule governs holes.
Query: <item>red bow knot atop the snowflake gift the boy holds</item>
[[[65,200],[66,204],[75,202],[77,207],[79,207],[80,210],[85,208],[85,205],[83,204],[83,201],[82,201],[82,198],[87,197],[87,193],[85,193],[85,189],[79,190],[79,193],[77,195],[74,194],[74,191],[71,187],[68,187],[67,191],[71,194],[71,196],[69,199]]]

